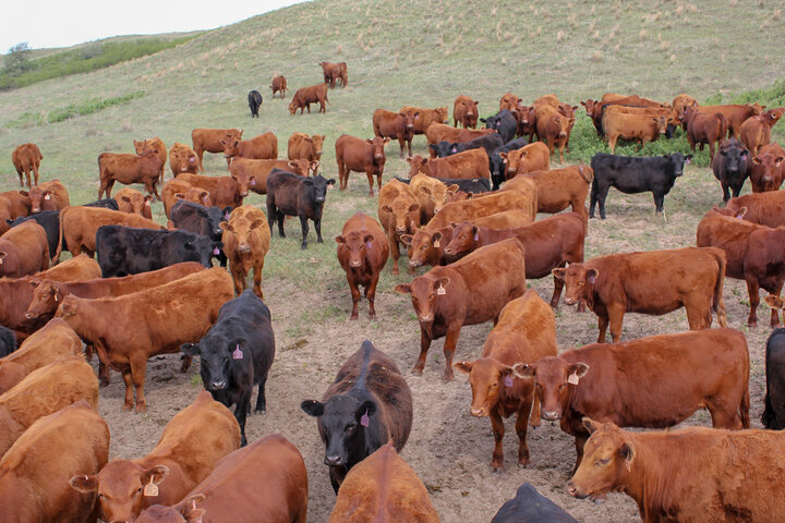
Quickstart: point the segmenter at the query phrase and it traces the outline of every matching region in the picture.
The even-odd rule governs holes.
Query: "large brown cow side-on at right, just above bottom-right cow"
[[[576,469],[588,437],[584,415],[665,428],[705,408],[714,427],[749,428],[749,368],[745,336],[726,328],[594,343],[514,366],[534,379],[542,418],[560,421],[575,436]]]

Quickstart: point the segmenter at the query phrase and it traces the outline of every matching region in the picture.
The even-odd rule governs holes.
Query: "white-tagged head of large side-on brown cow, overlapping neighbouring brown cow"
[[[516,363],[516,376],[534,379],[534,391],[540,398],[541,416],[555,422],[569,409],[575,388],[589,372],[585,363],[569,363],[559,356],[545,356],[536,363]]]

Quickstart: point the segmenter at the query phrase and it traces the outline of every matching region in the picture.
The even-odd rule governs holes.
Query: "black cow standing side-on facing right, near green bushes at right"
[[[600,217],[605,219],[605,197],[611,187],[633,194],[651,191],[657,212],[664,212],[665,195],[684,173],[692,155],[674,153],[665,156],[636,157],[597,153],[592,157],[594,181],[591,190],[589,218],[594,218],[594,205],[600,202]]]

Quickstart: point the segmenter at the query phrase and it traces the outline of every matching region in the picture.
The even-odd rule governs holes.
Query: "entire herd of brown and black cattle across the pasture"
[[[346,63],[321,65],[325,82],[298,89],[292,114],[310,112],[312,102],[325,110],[328,87],[347,85]],[[270,87],[286,96],[282,76]],[[261,105],[251,92],[252,117]],[[444,379],[456,369],[468,376],[471,415],[491,421],[494,470],[505,466],[504,418],[516,418],[519,465],[531,461],[528,427],[558,422],[575,438],[572,496],[621,490],[647,522],[774,521],[785,513],[777,495],[785,439],[749,428],[749,351],[744,333],[727,328],[723,285],[726,277],[747,282],[749,326],[766,290],[771,325],[780,325],[785,151],[771,143],[771,127],[785,109],[703,107],[687,95],[664,104],[607,94],[581,105],[612,151],[618,139],[673,136],[676,125],[693,150],[709,145],[727,205],[708,209],[696,246],[584,259],[588,220],[596,204],[606,218],[611,187],[651,192],[664,218],[664,197],[691,155],[597,154],[590,166],[553,169],[556,150],[564,161],[578,109],[554,95],[527,107],[507,93],[486,118],[478,101],[459,96],[452,125],[448,107],[378,109],[373,137],[335,137],[339,188],[348,188],[350,172],[364,172],[370,196],[374,177],[378,191],[376,216],[354,214],[335,238],[349,318],[359,318],[361,288],[369,316],[384,316],[375,303],[381,275],[389,258],[392,273],[404,266],[411,281],[395,291],[411,300],[421,332],[412,373],[422,374],[431,344],[445,338]],[[0,193],[2,519],[305,521],[309,478],[299,450],[279,435],[249,445],[245,424],[252,410],[266,410],[276,356],[262,289],[275,224],[283,238],[286,217],[298,217],[306,248],[312,221],[324,243],[335,180],[317,172],[325,135],[292,134],[288,158],[279,159],[275,134],[242,134],[194,129],[192,147],[176,143],[168,155],[157,137],[134,141],[135,155],[104,153],[99,199],[87,205],[72,205],[59,180],[39,183],[37,146],[13,151],[28,188]],[[428,157],[412,156],[416,135],[425,136]],[[391,141],[410,171],[383,181]],[[228,175],[200,174],[205,151],[225,156]],[[746,178],[753,194],[738,196]],[[116,182],[143,184],[148,194],[123,188],[112,198]],[[243,203],[249,192],[266,195],[266,212]],[[166,227],[153,219],[156,199]],[[554,216],[538,219],[542,214]],[[72,257],[59,263],[63,251]],[[554,281],[550,303],[528,289],[545,277]],[[561,294],[567,305],[594,313],[596,343],[558,352],[554,309]],[[626,313],[681,307],[690,330],[621,341]],[[714,317],[720,327],[711,329]],[[494,327],[479,357],[454,361],[461,328],[487,321]],[[101,385],[110,369],[121,373],[123,410],[146,411],[146,367],[157,354],[182,353],[183,372],[198,356],[206,391],[169,421],[147,455],[109,461],[109,429],[96,414],[99,379],[83,343],[87,357],[98,355]],[[766,428],[785,426],[783,350],[775,331],[766,348]],[[301,402],[316,418],[314,438],[324,443],[337,494],[330,521],[438,521],[424,485],[398,455],[416,423],[412,403],[398,364],[367,340],[319,399]],[[703,408],[712,428],[624,429],[672,427]],[[758,463],[769,472],[746,467]],[[575,520],[523,485],[494,521]]]

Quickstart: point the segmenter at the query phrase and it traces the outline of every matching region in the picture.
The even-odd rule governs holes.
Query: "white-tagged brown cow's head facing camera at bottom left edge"
[[[97,494],[104,521],[131,522],[142,510],[145,485],[160,485],[168,475],[165,465],[145,469],[132,461],[112,460],[97,475],[73,476],[70,483],[80,492]]]

